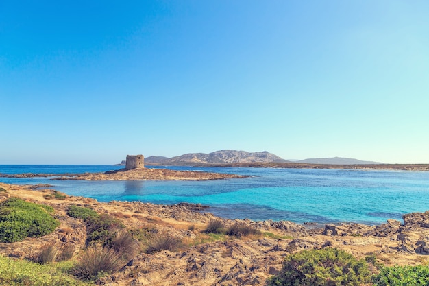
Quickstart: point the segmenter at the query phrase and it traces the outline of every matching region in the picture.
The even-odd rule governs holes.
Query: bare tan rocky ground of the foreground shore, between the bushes
[[[426,263],[429,255],[429,211],[410,213],[404,215],[404,222],[388,220],[379,226],[327,224],[308,228],[285,221],[221,219],[204,212],[206,206],[195,204],[100,203],[69,196],[59,200],[47,196],[51,189],[3,183],[0,188],[0,201],[15,196],[48,204],[61,222],[51,235],[0,243],[0,253],[9,257],[32,259],[42,246],[53,241],[84,248],[86,226],[66,215],[70,204],[112,215],[127,228],[154,230],[186,241],[177,251],[141,252],[119,272],[99,279],[97,285],[265,285],[266,279],[281,269],[286,255],[326,247],[341,248],[356,257],[375,255],[385,265],[419,265]],[[220,219],[227,227],[236,223],[252,226],[260,235],[210,237],[204,230],[212,219]]]

